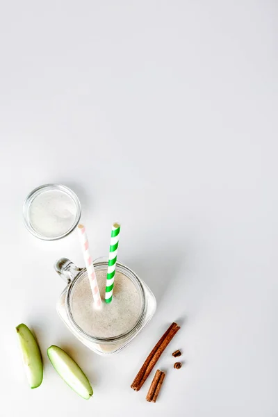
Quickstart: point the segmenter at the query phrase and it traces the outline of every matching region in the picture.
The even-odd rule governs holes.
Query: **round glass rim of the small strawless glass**
[[[76,216],[75,216],[75,220],[72,224],[72,226],[70,227],[70,229],[68,229],[67,231],[65,231],[65,233],[60,234],[58,236],[44,236],[43,234],[40,234],[38,231],[36,231],[30,221],[29,218],[29,210],[31,207],[31,204],[33,203],[33,200],[35,199],[35,197],[38,197],[38,195],[40,195],[41,193],[44,193],[44,191],[47,190],[60,190],[61,192],[69,195],[73,201],[74,204],[76,206]],[[36,238],[39,238],[41,240],[59,240],[62,238],[65,238],[65,236],[69,235],[70,233],[72,233],[72,231],[76,228],[77,224],[79,224],[79,220],[81,218],[81,204],[79,201],[79,198],[77,197],[76,193],[74,193],[74,191],[72,191],[69,187],[67,186],[63,186],[63,184],[58,184],[58,183],[49,183],[49,184],[43,184],[42,186],[39,186],[37,188],[34,188],[31,193],[29,193],[24,201],[23,204],[23,221],[24,221],[24,226],[26,227],[26,229],[33,234],[33,236],[35,236]]]

